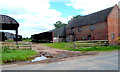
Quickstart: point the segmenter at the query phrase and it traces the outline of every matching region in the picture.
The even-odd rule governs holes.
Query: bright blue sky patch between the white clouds
[[[65,2],[50,2],[50,5],[50,9],[56,9],[57,11],[61,12],[62,17],[81,15],[80,12],[84,10],[74,9],[71,6],[66,6]]]

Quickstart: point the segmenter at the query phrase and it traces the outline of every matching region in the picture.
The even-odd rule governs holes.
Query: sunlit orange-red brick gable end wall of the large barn
[[[120,19],[118,20],[118,18],[120,17],[119,15],[119,8],[116,5],[111,13],[109,14],[108,18],[107,18],[107,23],[108,23],[108,37],[109,37],[109,44],[110,45],[118,45],[118,33],[120,34]],[[115,34],[115,38],[112,38],[112,33]]]

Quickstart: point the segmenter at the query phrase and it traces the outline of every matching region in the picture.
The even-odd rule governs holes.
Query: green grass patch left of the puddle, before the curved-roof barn
[[[29,49],[9,49],[8,47],[2,48],[2,62],[12,61],[25,61],[27,58],[36,55],[37,52]]]

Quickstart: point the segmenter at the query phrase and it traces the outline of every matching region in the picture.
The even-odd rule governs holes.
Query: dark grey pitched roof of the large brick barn
[[[105,10],[101,10],[86,16],[80,16],[76,19],[71,20],[67,28],[73,28],[73,27],[78,27],[78,26],[84,26],[88,24],[97,24],[101,22],[107,21],[107,16],[111,12],[113,7],[107,8]]]

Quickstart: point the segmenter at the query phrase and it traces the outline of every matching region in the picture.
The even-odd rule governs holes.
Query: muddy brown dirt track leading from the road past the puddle
[[[92,52],[68,51],[68,50],[51,48],[48,46],[44,46],[42,44],[32,44],[32,49],[38,52],[38,54],[34,57],[31,57],[31,59],[43,55],[48,59],[37,62],[29,62],[29,63],[26,61],[20,61],[20,62],[14,62],[12,64],[52,63],[58,61],[65,61],[75,57],[87,57],[87,56],[110,53],[110,52],[93,52],[93,51]]]

